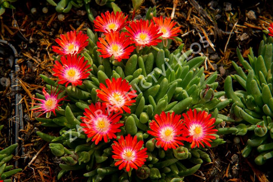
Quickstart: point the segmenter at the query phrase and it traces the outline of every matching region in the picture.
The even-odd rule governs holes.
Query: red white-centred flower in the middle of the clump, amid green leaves
[[[106,86],[103,83],[99,84],[99,89],[96,90],[98,93],[97,96],[100,100],[103,101],[103,104],[110,108],[110,110],[114,110],[115,112],[120,111],[123,113],[123,110],[127,113],[130,113],[130,109],[128,106],[131,106],[132,103],[136,102],[133,100],[134,97],[137,96],[136,91],[131,89],[132,86],[126,82],[126,79],[106,79]],[[131,91],[129,92],[129,90]]]

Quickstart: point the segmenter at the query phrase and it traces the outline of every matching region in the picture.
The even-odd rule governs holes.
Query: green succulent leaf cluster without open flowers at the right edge
[[[258,49],[258,57],[254,56],[250,48],[249,61],[244,60],[237,49],[240,64],[247,74],[232,62],[237,74],[228,76],[224,85],[227,97],[233,102],[230,116],[239,124],[236,127],[222,128],[219,133],[245,135],[250,131],[253,136],[248,139],[242,156],[248,157],[252,149],[257,150],[259,155],[255,158],[255,163],[258,165],[273,157],[272,43],[271,36],[264,36]],[[232,79],[240,83],[244,90],[234,91]]]

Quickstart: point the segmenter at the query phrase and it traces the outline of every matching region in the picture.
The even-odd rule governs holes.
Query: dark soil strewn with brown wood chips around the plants
[[[205,47],[201,44],[199,55],[207,56],[205,62],[205,73],[207,75],[214,71],[219,73],[218,90],[223,90],[224,79],[227,75],[236,73],[231,65],[231,60],[238,62],[236,48],[239,47],[243,56],[247,57],[248,48],[253,47],[257,54],[259,42],[263,32],[272,22],[272,2],[271,1],[184,1],[184,0],[146,0],[136,12],[136,18],[144,16],[147,7],[157,6],[157,15],[170,16],[173,4],[177,2],[174,19],[181,25],[182,39],[185,43],[185,51],[190,49],[193,42],[200,43],[207,40],[210,45]],[[95,3],[94,3],[95,4]],[[116,0],[116,4],[126,14],[132,14],[132,5],[128,1]],[[36,113],[29,111],[31,107],[31,97],[36,92],[40,93],[45,86],[39,74],[51,76],[54,53],[51,46],[55,44],[54,39],[59,34],[70,30],[93,29],[93,24],[87,18],[84,7],[72,9],[64,14],[65,18],[60,21],[59,13],[46,1],[26,1],[21,0],[13,3],[16,10],[6,9],[1,21],[1,39],[8,41],[19,52],[18,62],[20,72],[17,73],[21,85],[19,94],[22,96],[23,122],[24,128],[20,131],[20,151],[15,160],[18,166],[23,168],[15,178],[18,181],[57,181],[56,175],[61,170],[59,158],[54,157],[50,152],[48,143],[41,140],[36,131],[44,133],[57,133],[36,123]],[[42,12],[42,8],[47,7],[48,12]],[[31,9],[36,8],[36,13],[32,14]],[[101,12],[105,12],[105,6],[94,5],[93,15],[96,17]],[[228,41],[229,40],[229,41]],[[0,149],[14,143],[14,137],[9,133],[9,126],[14,122],[15,116],[15,91],[12,89],[10,80],[11,70],[14,64],[10,65],[8,58],[12,55],[5,45],[0,46],[0,125],[5,124],[0,135]],[[194,51],[198,47],[193,47]],[[234,84],[234,88],[240,88]],[[221,113],[228,115],[228,110]],[[232,123],[222,123],[232,126]],[[185,181],[273,181],[273,174],[270,167],[271,161],[263,166],[254,164],[256,153],[244,159],[240,155],[243,144],[248,136],[240,138],[240,143],[234,143],[234,136],[226,135],[225,144],[217,148],[210,149],[212,163],[204,164],[200,170],[192,176],[185,177]],[[32,158],[36,159],[31,162]],[[11,164],[15,164],[15,160]],[[31,164],[28,167],[29,162]],[[267,178],[267,180],[266,180]],[[81,172],[70,172],[59,181],[85,181]]]

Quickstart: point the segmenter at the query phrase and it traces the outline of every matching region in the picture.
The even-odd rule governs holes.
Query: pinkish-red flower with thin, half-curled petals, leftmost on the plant
[[[62,92],[62,90],[60,89],[58,93],[57,92],[57,88],[51,87],[51,93],[49,95],[49,93],[47,93],[45,91],[45,88],[42,89],[42,92],[45,96],[45,100],[44,99],[38,99],[38,98],[34,98],[32,97],[32,99],[38,100],[40,103],[31,103],[31,104],[35,104],[35,105],[40,105],[39,107],[33,108],[31,110],[35,110],[34,112],[40,112],[40,111],[44,111],[42,114],[40,114],[39,116],[43,115],[44,113],[46,114],[46,117],[49,118],[51,115],[51,111],[55,114],[55,110],[59,110],[59,106],[61,106],[62,104],[59,104],[59,102],[61,102],[62,100],[66,100],[65,98],[67,96],[64,96],[62,98],[58,98],[59,93]],[[38,116],[38,117],[39,117]]]

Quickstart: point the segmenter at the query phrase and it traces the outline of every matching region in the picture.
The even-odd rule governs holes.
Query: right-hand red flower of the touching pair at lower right
[[[206,111],[200,111],[197,113],[196,109],[187,111],[187,114],[183,113],[184,123],[186,126],[186,133],[183,135],[187,137],[187,141],[191,143],[191,148],[199,147],[199,144],[204,147],[205,143],[211,147],[211,139],[216,137],[211,135],[216,133],[218,130],[213,129],[215,118],[211,118],[211,114]]]

